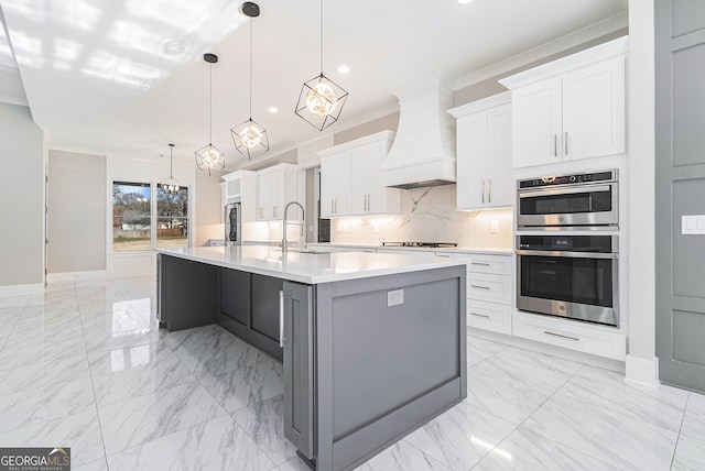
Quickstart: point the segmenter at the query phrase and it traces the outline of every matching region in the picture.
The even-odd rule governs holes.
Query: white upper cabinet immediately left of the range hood
[[[394,132],[382,131],[318,152],[324,218],[400,212],[401,190],[382,186],[379,178],[393,138]]]

